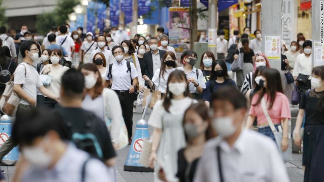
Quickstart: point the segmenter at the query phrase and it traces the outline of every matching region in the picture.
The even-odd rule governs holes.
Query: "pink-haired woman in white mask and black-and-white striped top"
[[[266,66],[268,68],[270,68],[270,64],[269,64],[269,60],[267,58],[267,56],[263,53],[258,53],[255,57],[254,57],[254,71],[250,72],[249,74],[246,75],[243,85],[241,87],[241,92],[243,94],[246,94],[247,91],[249,91],[250,89],[252,89],[253,87],[253,78],[254,78],[254,72],[255,70],[260,67],[260,66]]]

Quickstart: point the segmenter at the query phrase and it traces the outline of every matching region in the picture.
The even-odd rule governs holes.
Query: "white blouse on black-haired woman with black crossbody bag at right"
[[[305,53],[297,56],[293,76],[297,77],[299,74],[312,75],[312,54],[308,57],[305,56]],[[311,77],[309,77],[309,79],[311,79]]]

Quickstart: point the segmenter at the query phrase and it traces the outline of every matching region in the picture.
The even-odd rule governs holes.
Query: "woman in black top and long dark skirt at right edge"
[[[324,66],[314,67],[312,72],[312,90],[302,96],[293,137],[299,148],[303,141],[304,181],[321,181],[324,178]],[[301,127],[304,128],[300,130]]]

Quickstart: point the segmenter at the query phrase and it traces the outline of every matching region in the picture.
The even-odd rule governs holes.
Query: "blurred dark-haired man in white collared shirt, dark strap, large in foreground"
[[[211,103],[212,127],[219,137],[205,144],[194,182],[288,182],[275,143],[242,128],[247,112],[244,95],[231,87],[222,87],[212,94]]]

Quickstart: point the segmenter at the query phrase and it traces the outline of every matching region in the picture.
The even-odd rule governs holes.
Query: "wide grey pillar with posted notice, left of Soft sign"
[[[268,57],[272,68],[281,70],[282,0],[261,0],[261,16],[262,52]],[[277,42],[267,41],[270,40],[269,36],[277,37]],[[266,38],[268,39],[266,40]],[[274,44],[276,44],[276,49],[273,48]],[[271,48],[269,49],[269,47]],[[277,52],[276,55],[274,51]]]

